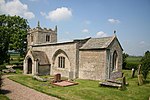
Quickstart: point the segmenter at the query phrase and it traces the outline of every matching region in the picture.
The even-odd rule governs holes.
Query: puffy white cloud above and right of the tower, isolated
[[[50,11],[48,15],[46,15],[47,19],[51,21],[61,21],[67,20],[72,16],[72,11],[67,7],[57,8],[56,10]]]

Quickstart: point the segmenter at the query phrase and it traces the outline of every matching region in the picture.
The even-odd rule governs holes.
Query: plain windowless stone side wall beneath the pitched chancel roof
[[[104,50],[81,50],[79,54],[79,78],[105,79],[106,53]]]

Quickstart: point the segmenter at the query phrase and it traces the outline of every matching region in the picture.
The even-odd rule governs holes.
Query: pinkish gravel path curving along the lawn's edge
[[[10,100],[58,100],[55,97],[48,96],[3,76],[2,91]]]

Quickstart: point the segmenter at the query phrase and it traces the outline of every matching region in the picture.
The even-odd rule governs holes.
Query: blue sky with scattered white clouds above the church
[[[18,15],[31,28],[58,27],[58,41],[114,35],[125,53],[150,51],[150,0],[0,0],[0,15]]]

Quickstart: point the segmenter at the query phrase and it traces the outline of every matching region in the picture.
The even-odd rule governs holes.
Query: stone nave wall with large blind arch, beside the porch
[[[32,50],[34,51],[44,51],[49,59],[51,64],[51,75],[60,73],[63,77],[69,77],[69,72],[73,73],[73,78],[76,78],[75,68],[77,65],[76,62],[76,46],[74,42],[68,43],[57,43],[57,44],[46,44],[46,45],[37,45],[33,46]],[[65,68],[58,68],[58,57],[65,57]]]

